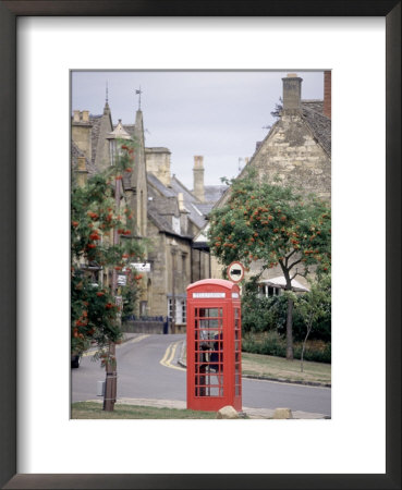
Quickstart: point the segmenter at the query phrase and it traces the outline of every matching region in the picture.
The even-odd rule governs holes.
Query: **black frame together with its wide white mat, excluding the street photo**
[[[379,0],[0,2],[3,488],[401,488],[400,19]],[[332,71],[331,420],[70,418],[69,73],[121,69]]]

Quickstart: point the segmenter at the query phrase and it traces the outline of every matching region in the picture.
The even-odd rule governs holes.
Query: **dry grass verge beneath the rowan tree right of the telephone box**
[[[331,365],[325,363],[303,363],[299,359],[288,360],[283,357],[266,356],[263,354],[242,353],[243,375],[275,378],[287,381],[331,383]]]

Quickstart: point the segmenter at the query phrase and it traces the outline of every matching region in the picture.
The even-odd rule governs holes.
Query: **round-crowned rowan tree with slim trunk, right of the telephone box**
[[[291,281],[330,270],[330,208],[322,200],[303,197],[291,186],[259,182],[249,172],[227,181],[230,197],[210,213],[209,246],[218,260],[240,260],[246,268],[257,262],[259,274],[280,266],[285,279],[287,358],[293,358],[293,304]]]

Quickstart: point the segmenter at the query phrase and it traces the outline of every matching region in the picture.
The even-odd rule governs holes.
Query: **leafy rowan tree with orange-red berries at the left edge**
[[[121,307],[115,292],[95,283],[98,270],[115,270],[126,275],[131,286],[141,280],[131,262],[144,258],[143,246],[136,240],[113,243],[113,232],[132,238],[133,212],[115,204],[117,183],[124,172],[132,171],[133,145],[124,142],[117,163],[107,172],[88,179],[86,185],[73,185],[71,195],[71,348],[82,353],[90,342],[97,346],[97,356],[105,363],[106,347],[119,342]]]

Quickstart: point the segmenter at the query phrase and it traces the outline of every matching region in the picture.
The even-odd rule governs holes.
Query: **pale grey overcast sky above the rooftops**
[[[169,148],[171,172],[192,189],[195,155],[204,156],[207,185],[239,173],[273,122],[288,73],[303,78],[302,98],[322,99],[324,72],[97,71],[73,72],[71,109],[101,114],[108,84],[113,123],[130,124],[141,87],[145,145]]]

